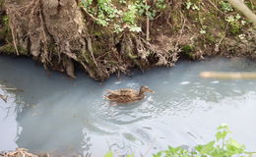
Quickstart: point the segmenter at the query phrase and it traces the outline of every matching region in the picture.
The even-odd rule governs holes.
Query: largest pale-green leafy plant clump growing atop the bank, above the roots
[[[122,8],[116,7],[123,6]],[[166,8],[164,0],[157,0],[152,6],[147,4],[146,0],[126,1],[118,0],[82,0],[80,6],[85,12],[93,18],[99,26],[105,26],[116,33],[124,31],[126,28],[130,31],[141,31],[137,26],[140,17],[148,17],[154,20],[157,12]]]

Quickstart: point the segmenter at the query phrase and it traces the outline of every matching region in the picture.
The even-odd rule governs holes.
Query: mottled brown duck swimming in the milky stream
[[[107,94],[104,95],[104,98],[113,103],[130,103],[145,98],[145,92],[155,93],[149,86],[141,86],[139,91],[131,88],[107,90]]]

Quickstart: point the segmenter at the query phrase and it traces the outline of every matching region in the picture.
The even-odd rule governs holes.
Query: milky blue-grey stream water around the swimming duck
[[[167,145],[210,141],[225,123],[233,138],[255,151],[256,80],[204,79],[201,71],[256,71],[256,65],[241,59],[181,62],[99,83],[82,72],[70,79],[28,59],[0,57],[0,84],[24,90],[0,90],[9,96],[8,103],[0,100],[0,150],[147,156]],[[102,99],[106,89],[141,85],[156,93],[127,106]]]

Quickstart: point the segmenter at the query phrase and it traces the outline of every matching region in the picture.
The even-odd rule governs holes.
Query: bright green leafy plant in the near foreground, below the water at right
[[[239,144],[233,138],[228,138],[231,133],[226,125],[218,127],[216,139],[207,144],[197,145],[193,149],[185,149],[183,147],[168,146],[166,150],[162,150],[153,157],[251,157],[252,153],[245,151],[245,146]],[[112,152],[107,152],[104,157],[113,157]],[[126,157],[133,157],[127,155]]]

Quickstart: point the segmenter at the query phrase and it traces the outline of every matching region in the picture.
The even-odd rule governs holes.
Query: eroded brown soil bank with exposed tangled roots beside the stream
[[[124,25],[118,33],[96,24],[79,0],[1,0],[0,53],[31,57],[72,78],[82,68],[97,80],[133,68],[171,67],[181,58],[256,58],[255,30],[226,1],[163,2],[155,18],[138,16],[142,31]],[[245,3],[255,12],[255,1]]]

